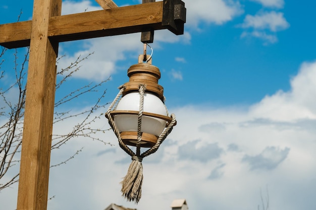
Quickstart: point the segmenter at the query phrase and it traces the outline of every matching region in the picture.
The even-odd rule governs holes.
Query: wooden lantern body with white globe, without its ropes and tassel
[[[158,84],[161,77],[159,68],[151,64],[151,59],[143,62],[142,58],[140,55],[138,63],[128,69],[129,82],[124,84],[122,98],[110,114],[124,144],[136,146],[141,137],[140,147],[150,148],[157,143],[172,118],[168,116],[164,103],[164,89]],[[144,88],[143,96],[141,86]]]

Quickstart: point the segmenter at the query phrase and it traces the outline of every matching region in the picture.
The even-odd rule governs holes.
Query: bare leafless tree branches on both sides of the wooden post
[[[11,185],[19,181],[18,168],[20,163],[20,152],[22,145],[22,129],[27,75],[26,65],[28,63],[29,49],[27,49],[26,53],[22,56],[22,60],[18,57],[20,51],[18,51],[17,49],[15,50],[13,56],[14,61],[12,62],[13,70],[2,68],[4,66],[4,63],[7,62],[7,60],[4,59],[5,53],[8,53],[8,50],[2,47],[0,49],[0,192],[1,190],[10,187]],[[86,94],[97,92],[101,88],[105,90],[103,86],[109,79],[101,81],[99,83],[89,83],[71,92],[67,92],[67,89],[63,88],[64,85],[67,84],[67,81],[73,76],[73,74],[79,71],[81,61],[87,59],[91,54],[83,58],[79,56],[77,60],[70,63],[68,67],[61,69],[57,73],[58,82],[56,84],[56,90],[58,91],[58,93],[65,92],[65,94],[62,95],[62,97],[59,97],[60,99],[56,99],[54,124],[78,116],[81,116],[81,119],[83,118],[83,120],[80,121],[78,124],[75,124],[72,130],[67,133],[53,133],[51,145],[52,150],[62,147],[71,139],[79,136],[92,139],[94,141],[99,141],[102,144],[109,144],[104,142],[102,139],[99,139],[96,135],[96,133],[105,132],[108,129],[93,128],[93,123],[95,122],[95,120],[100,118],[102,115],[96,114],[96,110],[104,108],[107,105],[107,103],[102,104],[101,102],[101,99],[106,94],[106,91],[102,91],[101,93],[99,93],[99,96],[93,103],[92,107],[85,111],[75,114],[72,111],[59,111],[61,110],[59,109],[59,107],[65,107],[70,102],[80,100],[81,97],[84,97]],[[63,57],[64,56],[59,59],[62,59]],[[57,62],[58,61],[59,60],[57,60]],[[8,85],[6,77],[9,74],[9,71],[11,71],[11,75],[12,71],[15,72],[15,82]],[[13,95],[15,96],[14,98],[12,97]],[[79,149],[78,151],[74,151],[74,154],[70,154],[69,159],[64,160],[63,162],[54,166],[66,163],[75,155],[77,155],[80,151],[81,149]]]

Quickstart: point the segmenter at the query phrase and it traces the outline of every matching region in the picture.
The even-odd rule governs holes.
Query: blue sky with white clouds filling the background
[[[49,194],[56,197],[49,200],[48,209],[104,209],[112,202],[140,210],[168,209],[173,199],[186,198],[190,209],[250,210],[261,203],[260,189],[265,192],[267,186],[271,209],[315,209],[315,3],[185,4],[184,35],[156,31],[151,44],[167,106],[178,125],[159,152],[143,161],[145,180],[138,206],[120,196],[119,182],[130,160],[109,131],[100,136],[116,146],[103,148],[78,139],[52,152],[51,161],[58,162],[85,148],[66,166],[51,170]],[[86,9],[100,7],[92,0],[63,1],[63,14]],[[1,2],[0,24],[15,22],[21,10],[21,20],[30,20],[32,1]],[[139,40],[140,34],[129,34],[61,43],[60,55],[67,56],[59,68],[94,52],[64,88],[111,76],[103,87],[108,90],[104,101],[113,100],[117,87],[128,80],[126,69],[142,53]],[[12,66],[6,62],[0,71],[4,68]],[[8,77],[6,84],[13,76]],[[73,103],[73,109],[84,109],[95,97]],[[54,131],[74,123],[56,125]],[[101,119],[95,126],[108,125]],[[6,209],[15,209],[16,190],[17,186],[0,195]]]

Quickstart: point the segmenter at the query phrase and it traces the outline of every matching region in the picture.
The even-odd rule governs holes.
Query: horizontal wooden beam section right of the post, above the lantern
[[[145,27],[162,26],[163,2],[113,8],[50,19],[48,36],[71,41],[141,32]]]

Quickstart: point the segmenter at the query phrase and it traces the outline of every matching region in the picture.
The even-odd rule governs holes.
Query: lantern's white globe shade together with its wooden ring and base
[[[139,112],[139,92],[128,93],[122,97],[114,112],[114,121],[125,144],[136,146]],[[158,136],[164,131],[167,110],[160,98],[151,93],[144,93],[143,116],[141,119],[141,147],[152,147]]]

